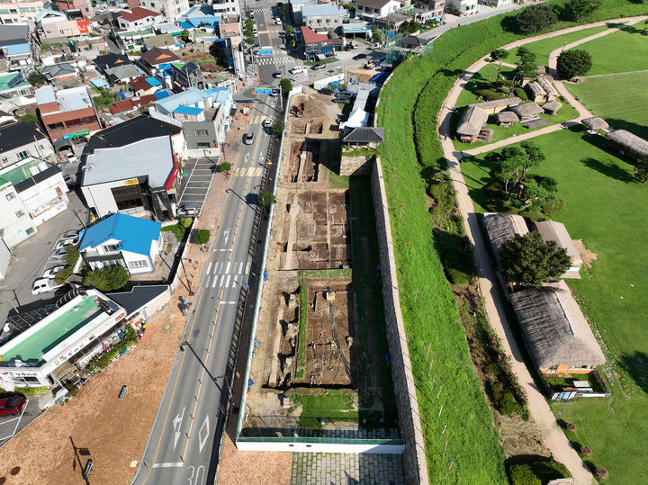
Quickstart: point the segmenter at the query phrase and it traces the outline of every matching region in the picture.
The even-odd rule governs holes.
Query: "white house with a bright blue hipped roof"
[[[84,229],[79,253],[91,269],[121,265],[130,274],[155,271],[163,246],[162,225],[117,212]]]

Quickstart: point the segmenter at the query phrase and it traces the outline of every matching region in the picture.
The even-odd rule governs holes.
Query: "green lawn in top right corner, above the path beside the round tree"
[[[643,22],[591,40],[578,47],[590,52],[592,67],[587,76],[648,69],[648,35],[642,35]]]

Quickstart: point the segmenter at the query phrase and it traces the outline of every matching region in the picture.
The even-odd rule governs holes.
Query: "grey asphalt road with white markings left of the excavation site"
[[[255,143],[241,145],[233,164],[220,224],[214,230],[200,286],[193,289],[196,294],[184,333],[186,345],[175,356],[133,483],[188,481],[198,485],[214,480],[227,407],[223,393],[229,391],[229,382],[222,376],[231,362],[234,330],[246,308],[247,284],[258,278],[250,275],[250,241],[258,185],[272,138],[260,121],[275,115],[276,103],[275,98],[263,97],[264,103],[252,105],[259,116],[250,117],[257,122],[250,123],[247,132],[254,131]],[[247,304],[250,302],[248,298]]]

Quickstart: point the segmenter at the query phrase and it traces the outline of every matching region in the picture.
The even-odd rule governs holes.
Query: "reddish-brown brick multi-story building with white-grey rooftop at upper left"
[[[99,117],[85,85],[59,91],[51,85],[44,85],[35,94],[40,119],[54,148],[71,146],[101,130]]]

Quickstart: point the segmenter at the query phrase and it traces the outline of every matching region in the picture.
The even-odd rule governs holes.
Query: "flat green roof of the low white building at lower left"
[[[9,348],[2,355],[3,360],[0,365],[13,362],[15,359],[23,362],[41,362],[43,355],[92,321],[102,311],[94,302],[94,297],[85,297],[63,315],[53,319],[21,343]]]

